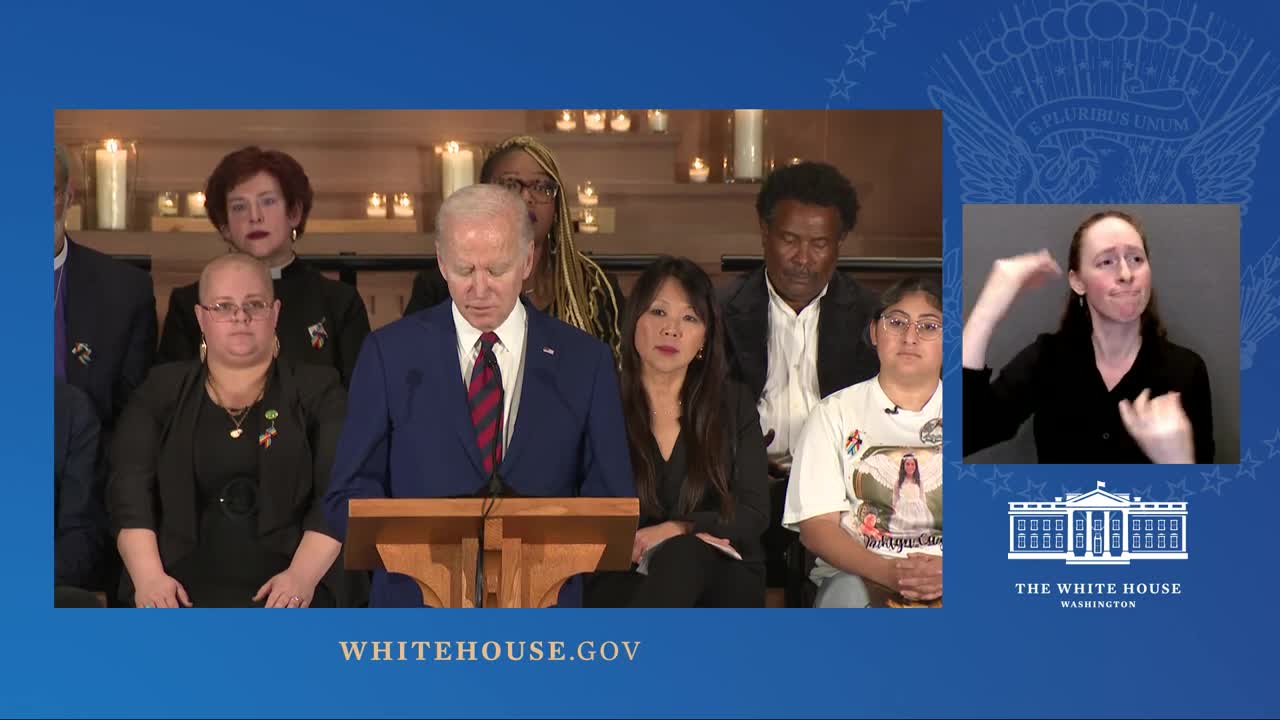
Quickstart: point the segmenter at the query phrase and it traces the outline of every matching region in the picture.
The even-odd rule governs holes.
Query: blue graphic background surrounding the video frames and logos
[[[1075,3],[1068,0],[713,8],[41,5],[6,9],[8,32],[0,44],[8,95],[0,124],[10,160],[0,177],[10,237],[5,288],[13,310],[5,334],[10,348],[31,347],[0,359],[10,378],[8,411],[0,415],[0,452],[9,464],[9,512],[0,525],[0,543],[10,548],[0,712],[270,717],[1280,712],[1274,684],[1277,582],[1271,525],[1277,495],[1271,478],[1280,455],[1272,380],[1280,369],[1280,338],[1271,337],[1272,313],[1280,305],[1272,281],[1280,264],[1272,255],[1280,210],[1271,202],[1280,187],[1280,120],[1267,95],[1280,85],[1275,4],[1106,3],[1093,14],[1070,12]],[[1059,22],[1055,9],[1069,12]],[[1130,24],[1139,20],[1140,28]],[[1128,41],[1128,49],[1143,61],[1133,69],[1123,63],[1102,67],[1107,49],[1115,50],[1135,29],[1139,37]],[[1152,37],[1143,38],[1142,32]],[[101,40],[104,33],[113,40]],[[1001,40],[1006,36],[1007,42]],[[993,40],[1001,40],[1007,56],[992,54]],[[1235,60],[1225,68],[1207,67],[1207,54],[1222,65],[1226,53]],[[1073,67],[1091,59],[1098,64]],[[1157,68],[1155,78],[1147,77],[1148,65]],[[1023,74],[1012,74],[1019,67]],[[1036,85],[1027,67],[1039,68],[1047,83]],[[393,81],[401,73],[412,81]],[[1169,187],[1140,181],[1062,188],[1043,174],[1019,174],[1019,167],[1042,170],[1053,152],[1084,147],[1087,132],[1057,138],[1053,152],[982,156],[991,145],[1016,149],[1001,129],[1010,127],[1007,113],[1025,109],[1015,99],[1025,99],[1027,106],[1083,95],[1115,99],[1123,81],[1134,74],[1167,81],[1179,97],[1189,99],[1204,128],[1236,123],[1213,142],[1167,146],[1187,150],[1206,168],[1203,186],[1194,188],[1197,201],[1239,202],[1245,213],[1240,279],[1247,368],[1238,466],[964,466],[952,432],[946,446],[948,591],[946,607],[934,612],[51,610],[51,497],[45,480],[51,404],[45,378],[52,345],[46,315],[24,310],[28,297],[49,297],[50,290],[46,173],[54,108],[941,106],[947,113],[946,272],[952,278],[959,277],[964,201],[1038,196],[1053,202],[1153,202],[1169,195]],[[1011,85],[992,92],[997,81]],[[1014,85],[1025,94],[1009,91]],[[931,87],[947,88],[951,97],[968,92],[980,101],[961,117],[936,101]],[[1251,100],[1258,105],[1242,111]],[[1089,161],[1085,158],[1085,165]],[[1204,252],[1212,252],[1212,245],[1213,238],[1206,238]],[[952,293],[957,299],[959,290],[948,288],[948,299]],[[959,348],[950,341],[957,337],[957,306],[948,302],[946,382],[952,418],[959,416],[960,387],[954,372]],[[33,343],[27,346],[24,338]],[[1085,491],[1094,480],[1120,492],[1187,500],[1190,559],[1125,568],[1006,560],[1009,501]],[[1184,594],[1139,598],[1134,610],[1062,610],[1052,598],[1019,597],[1012,589],[1015,582],[1112,579],[1180,582]],[[344,664],[339,639],[562,639],[570,647],[580,639],[627,639],[641,641],[641,647],[634,664]]]

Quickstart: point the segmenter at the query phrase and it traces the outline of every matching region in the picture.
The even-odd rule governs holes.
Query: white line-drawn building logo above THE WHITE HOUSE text
[[[1009,559],[1068,565],[1187,560],[1187,503],[1107,492],[1103,482],[1053,502],[1010,502]]]

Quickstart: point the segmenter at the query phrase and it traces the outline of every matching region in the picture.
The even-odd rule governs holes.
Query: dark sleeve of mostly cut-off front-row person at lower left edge
[[[99,420],[79,389],[55,386],[59,432],[65,430],[61,475],[56,478],[58,518],[54,538],[54,582],[95,587],[106,550],[102,465],[99,462]]]

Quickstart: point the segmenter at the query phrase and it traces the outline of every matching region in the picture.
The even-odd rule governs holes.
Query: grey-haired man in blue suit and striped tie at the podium
[[[330,527],[346,538],[351,498],[480,495],[495,466],[522,496],[635,496],[612,352],[520,299],[532,269],[524,202],[470,186],[435,227],[452,302],[365,341],[325,497]],[[374,573],[371,607],[421,605],[412,579]]]

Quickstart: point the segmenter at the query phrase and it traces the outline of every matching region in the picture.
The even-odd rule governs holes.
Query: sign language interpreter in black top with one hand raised
[[[1021,288],[1061,273],[1046,250],[995,263],[964,327],[964,454],[1012,437],[1034,415],[1041,462],[1212,462],[1208,372],[1166,340],[1147,237],[1125,213],[1097,213],[1076,228],[1061,327],[991,380],[996,324]]]

